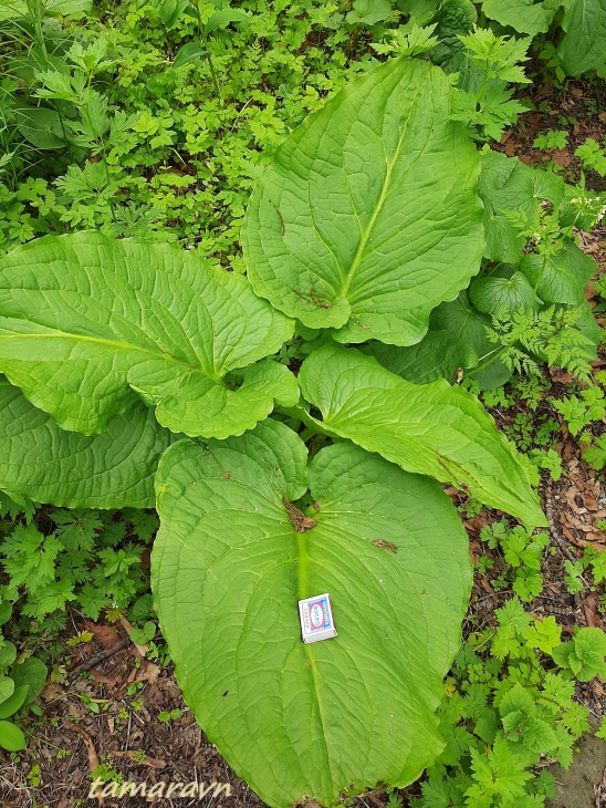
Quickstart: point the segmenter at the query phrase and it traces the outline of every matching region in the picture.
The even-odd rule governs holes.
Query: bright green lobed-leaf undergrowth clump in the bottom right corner
[[[440,708],[447,745],[416,808],[543,806],[556,796],[546,766],[567,768],[589,729],[574,678],[604,673],[603,632],[581,629],[562,642],[553,617],[531,617],[516,598],[495,618],[494,628],[470,633],[454,660]]]

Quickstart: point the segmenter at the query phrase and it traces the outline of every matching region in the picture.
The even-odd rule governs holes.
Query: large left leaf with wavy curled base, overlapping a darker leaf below
[[[252,367],[239,390],[226,376],[292,330],[243,278],[166,245],[79,232],[0,259],[0,370],[65,429],[105,429],[136,391],[174,432],[241,434],[274,398],[296,403],[295,380],[272,370],[268,392]]]

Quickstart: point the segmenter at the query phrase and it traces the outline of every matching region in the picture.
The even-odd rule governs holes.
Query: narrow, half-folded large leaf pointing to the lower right
[[[480,402],[446,381],[416,385],[355,349],[325,345],[301,366],[301,390],[332,433],[408,472],[451,483],[527,525],[546,525],[515,449]]]

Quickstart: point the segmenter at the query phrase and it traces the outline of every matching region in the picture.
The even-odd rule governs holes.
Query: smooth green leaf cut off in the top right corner
[[[566,0],[557,52],[568,75],[606,63],[606,0]]]

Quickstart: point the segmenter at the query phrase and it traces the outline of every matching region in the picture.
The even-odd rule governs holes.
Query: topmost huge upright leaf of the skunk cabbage
[[[441,70],[391,60],[290,135],[242,231],[258,294],[342,342],[424,336],[483,246],[478,153],[450,97]]]

